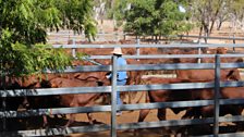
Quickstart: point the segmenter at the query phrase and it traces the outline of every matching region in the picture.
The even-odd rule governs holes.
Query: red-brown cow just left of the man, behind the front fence
[[[102,86],[109,85],[110,82],[105,79],[105,72],[87,72],[87,73],[66,73],[66,74],[49,74],[49,78],[44,78],[40,86],[35,86],[32,88],[58,88],[58,87],[83,87],[83,86]],[[29,77],[27,79],[35,79]],[[103,79],[102,79],[103,78]],[[28,80],[24,80],[27,83]],[[40,97],[27,97],[24,101],[26,109],[46,109],[46,108],[60,108],[60,107],[76,107],[76,105],[88,105],[91,104],[94,98],[98,98],[100,94],[82,94],[82,95],[66,95],[66,96],[40,96]],[[84,102],[82,102],[84,99]],[[76,101],[76,102],[75,102]],[[89,102],[90,101],[90,102]],[[83,103],[87,104],[83,104]],[[69,126],[73,122],[73,114],[71,114],[71,120],[66,124]],[[57,115],[56,115],[57,116]],[[47,116],[44,117],[42,126],[47,126]],[[88,114],[89,123],[93,122],[91,116]]]

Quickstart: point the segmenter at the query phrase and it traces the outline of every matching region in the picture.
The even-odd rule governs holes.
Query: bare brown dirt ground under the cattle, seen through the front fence
[[[136,123],[138,119],[139,111],[123,111],[123,114],[117,116],[117,124],[124,123]],[[167,109],[167,120],[180,120],[184,115],[185,111],[174,114],[170,109]],[[94,117],[97,120],[98,124],[110,124],[110,113],[94,113]],[[86,114],[77,114],[77,123],[74,125],[88,125],[88,120]],[[147,115],[145,122],[157,122],[157,110],[151,110]],[[81,124],[82,123],[82,124]],[[184,127],[184,128],[182,128]],[[181,126],[181,127],[169,127],[170,130],[164,130],[162,127],[159,128],[147,128],[138,129],[138,137],[173,137],[176,136],[175,132],[179,129],[182,136],[198,136],[198,135],[210,135],[212,134],[212,126],[209,125],[194,125],[194,126]],[[171,130],[172,129],[172,130]],[[187,132],[187,134],[185,134]],[[235,133],[237,132],[236,126],[233,123],[221,123],[220,133]],[[240,130],[239,130],[240,132]],[[110,132],[99,132],[99,133],[83,133],[83,134],[73,134],[68,137],[110,137]],[[134,137],[134,130],[118,130],[118,137]]]

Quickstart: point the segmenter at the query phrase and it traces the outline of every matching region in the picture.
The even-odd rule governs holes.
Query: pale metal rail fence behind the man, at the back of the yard
[[[191,36],[184,36],[184,37],[191,37]],[[198,36],[192,36],[192,37],[198,37]],[[204,38],[206,38],[206,37],[204,37]],[[218,38],[221,38],[221,37],[208,37],[208,38],[218,39]],[[228,39],[228,38],[222,37],[222,39]],[[235,38],[235,39],[244,40],[244,38]],[[136,49],[136,54],[135,55],[141,54],[139,52],[141,52],[142,48],[161,48],[161,49],[196,48],[196,49],[198,49],[198,54],[203,53],[204,48],[218,48],[218,47],[233,48],[233,52],[235,52],[235,48],[244,48],[243,43],[202,43],[202,42],[197,42],[197,43],[145,45],[145,43],[141,43],[139,39],[136,39],[135,45],[76,45],[75,42],[73,42],[72,45],[52,45],[52,46],[53,46],[53,48],[72,49],[72,55],[73,57],[76,57],[76,52],[77,52],[76,49],[78,49],[78,48],[84,48],[84,49],[85,48],[103,49],[103,48],[115,48],[115,47],[135,48]],[[124,55],[124,57],[127,58],[126,55]],[[130,57],[130,58],[137,58],[137,57]],[[110,55],[94,55],[90,59],[111,59],[111,57]]]

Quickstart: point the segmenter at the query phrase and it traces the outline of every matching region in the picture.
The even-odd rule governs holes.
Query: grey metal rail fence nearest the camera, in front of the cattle
[[[142,46],[142,45],[141,45]],[[124,47],[124,46],[122,46]],[[190,46],[192,47],[192,46]],[[219,45],[218,45],[219,47]],[[65,48],[65,47],[64,47]],[[70,48],[70,47],[69,47]],[[75,47],[78,48],[78,47]],[[90,48],[90,47],[89,47]],[[182,58],[181,54],[179,54]],[[111,94],[111,105],[99,105],[99,107],[80,107],[80,108],[59,108],[59,109],[38,109],[27,111],[1,111],[0,117],[26,117],[30,115],[48,115],[48,114],[69,114],[69,113],[86,113],[86,112],[111,112],[111,124],[110,125],[90,125],[82,127],[69,127],[65,129],[49,128],[49,129],[33,129],[33,130],[17,130],[17,132],[2,132],[1,136],[51,136],[51,135],[68,135],[72,133],[82,132],[101,132],[111,130],[111,136],[117,136],[118,129],[136,129],[147,127],[161,127],[161,126],[175,126],[175,125],[194,125],[194,124],[215,124],[213,136],[219,135],[219,122],[235,122],[244,121],[242,115],[232,117],[219,117],[219,105],[221,104],[239,104],[244,103],[242,99],[219,99],[220,87],[240,87],[243,86],[243,82],[220,82],[220,68],[230,67],[244,67],[244,63],[220,63],[220,57],[241,57],[243,54],[200,54],[194,55],[188,54],[188,58],[215,58],[216,63],[179,63],[179,64],[143,64],[143,65],[126,65],[117,66],[117,58],[106,57],[106,59],[112,60],[112,65],[94,65],[94,66],[77,66],[75,68],[68,68],[66,73],[73,72],[112,72],[117,74],[118,71],[146,71],[146,70],[204,70],[210,68],[216,70],[215,83],[186,83],[186,84],[163,84],[163,85],[131,85],[131,86],[117,86],[117,75],[112,75],[112,85],[103,87],[75,87],[75,88],[47,88],[47,89],[16,89],[16,90],[1,90],[1,97],[25,97],[25,96],[48,96],[48,95],[68,95],[68,94],[89,94],[89,92],[108,92]],[[166,55],[127,55],[126,58],[144,59],[144,58],[179,58],[178,55],[166,57]],[[185,57],[187,58],[187,57]],[[102,58],[105,59],[105,58]],[[115,103],[117,90],[120,91],[145,91],[145,90],[158,90],[158,89],[196,89],[196,88],[215,88],[213,100],[197,100],[197,101],[175,101],[175,102],[160,102],[160,103],[141,103],[141,104],[122,104]],[[143,122],[143,123],[130,123],[130,124],[117,124],[115,111],[129,111],[129,110],[141,110],[141,109],[159,109],[159,108],[183,108],[183,107],[203,107],[215,104],[213,117],[203,120],[179,120],[179,121],[160,121],[160,122]],[[234,134],[232,134],[234,135]],[[230,135],[230,136],[232,136]]]

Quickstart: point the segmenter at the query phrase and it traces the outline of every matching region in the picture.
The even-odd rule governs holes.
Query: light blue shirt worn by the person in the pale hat
[[[123,58],[121,58],[121,57],[119,57],[119,58],[117,59],[117,65],[126,65],[126,64],[127,64],[127,63],[126,63],[126,60],[125,60],[125,59],[123,59]],[[109,77],[111,78],[111,77],[112,77],[112,74],[110,74]],[[126,79],[126,78],[127,78],[126,71],[121,71],[121,72],[118,72],[118,73],[117,73],[117,79],[118,79],[118,80],[124,80],[124,79]]]

